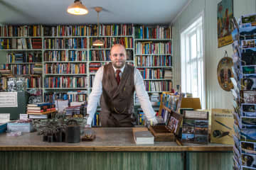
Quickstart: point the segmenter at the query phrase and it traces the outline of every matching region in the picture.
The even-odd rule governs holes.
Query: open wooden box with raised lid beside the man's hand
[[[166,108],[167,110],[168,108]],[[154,135],[155,142],[174,142],[181,126],[182,115],[168,110],[168,122],[166,125],[150,126],[149,130]]]

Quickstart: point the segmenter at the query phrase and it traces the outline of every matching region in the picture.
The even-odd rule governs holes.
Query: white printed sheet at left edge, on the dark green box
[[[17,108],[18,98],[17,92],[1,92],[0,108]]]

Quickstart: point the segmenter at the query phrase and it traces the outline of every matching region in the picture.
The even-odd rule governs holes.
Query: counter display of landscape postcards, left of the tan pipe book
[[[182,142],[208,143],[208,112],[185,111],[181,140]]]

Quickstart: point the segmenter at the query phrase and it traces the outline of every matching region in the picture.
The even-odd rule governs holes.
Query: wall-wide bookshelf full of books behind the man
[[[0,52],[6,55],[6,61],[1,61],[1,69],[10,68],[14,72],[16,68],[25,67],[31,71],[29,68],[35,64],[42,64],[43,73],[36,77],[40,77],[40,86],[28,86],[28,89],[42,89],[44,101],[63,98],[69,92],[79,94],[80,91],[83,98],[87,98],[95,72],[110,62],[110,47],[114,43],[126,47],[127,64],[140,70],[149,94],[169,91],[172,84],[169,26],[101,24],[99,36],[97,25],[0,26],[0,29]],[[102,38],[105,45],[93,47],[96,38]],[[32,72],[22,73],[22,77],[33,77]],[[30,79],[28,81],[36,81]]]

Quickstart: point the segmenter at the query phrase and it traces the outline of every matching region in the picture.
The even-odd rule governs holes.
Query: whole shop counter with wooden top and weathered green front
[[[42,142],[43,136],[0,135],[0,169],[215,170],[232,169],[233,146],[155,142],[136,145],[132,128],[94,128],[92,142]]]

